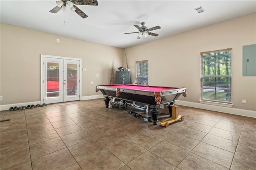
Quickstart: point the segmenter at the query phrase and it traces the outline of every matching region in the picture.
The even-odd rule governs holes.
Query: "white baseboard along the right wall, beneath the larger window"
[[[176,105],[182,105],[182,106],[188,106],[188,107],[194,107],[198,109],[206,109],[209,111],[217,111],[222,113],[230,113],[233,115],[240,115],[240,116],[246,116],[246,117],[254,117],[256,118],[256,111],[250,111],[250,110],[244,110],[244,109],[235,109],[231,107],[222,107],[222,106],[216,106],[216,105],[207,105],[202,103],[194,103],[194,102],[188,102],[188,101],[179,101],[177,100],[175,102]]]

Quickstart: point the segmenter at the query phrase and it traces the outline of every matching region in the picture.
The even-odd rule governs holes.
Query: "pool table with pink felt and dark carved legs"
[[[152,115],[152,122],[157,125],[158,111],[160,105],[174,103],[182,94],[186,97],[184,87],[160,87],[146,85],[114,84],[96,85],[96,92],[101,91],[105,96],[105,106],[108,108],[109,97],[142,103],[149,106],[149,113]]]

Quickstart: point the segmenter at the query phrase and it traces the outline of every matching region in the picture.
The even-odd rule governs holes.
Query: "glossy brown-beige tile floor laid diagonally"
[[[130,109],[134,110],[134,109]],[[256,119],[178,107],[169,127],[102,99],[1,111],[0,169],[256,170]]]

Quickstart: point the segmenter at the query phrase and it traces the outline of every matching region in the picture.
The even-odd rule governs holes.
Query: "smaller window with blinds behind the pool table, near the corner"
[[[148,85],[148,60],[136,61],[136,80],[138,85]]]

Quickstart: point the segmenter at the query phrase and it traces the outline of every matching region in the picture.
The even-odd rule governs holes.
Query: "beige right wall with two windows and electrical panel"
[[[242,76],[242,46],[255,43],[256,13],[129,47],[124,54],[132,82],[135,61],[148,59],[149,85],[186,87],[188,97],[178,100],[199,103],[200,52],[232,48],[232,108],[256,111],[256,77]]]

